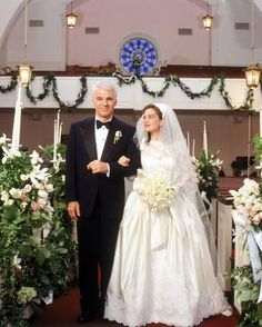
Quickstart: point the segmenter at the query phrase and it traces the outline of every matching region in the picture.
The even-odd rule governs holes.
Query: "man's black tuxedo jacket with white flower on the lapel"
[[[115,140],[121,131],[121,137]],[[124,177],[135,175],[141,167],[140,151],[133,141],[134,127],[113,117],[101,161],[110,166],[110,177],[93,175],[87,165],[97,159],[94,117],[72,123],[67,148],[66,198],[79,201],[82,217],[92,215],[99,194],[104,215],[121,219],[124,206]],[[129,167],[118,164],[121,156],[129,157]]]

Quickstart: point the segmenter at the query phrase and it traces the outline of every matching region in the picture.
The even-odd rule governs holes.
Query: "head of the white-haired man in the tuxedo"
[[[95,89],[93,92],[93,107],[95,115],[101,121],[105,121],[113,116],[117,99],[112,90]]]

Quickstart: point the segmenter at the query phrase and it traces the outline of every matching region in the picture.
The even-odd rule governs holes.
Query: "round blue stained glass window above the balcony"
[[[158,63],[158,50],[147,38],[129,39],[120,49],[119,61],[128,73],[152,73]]]

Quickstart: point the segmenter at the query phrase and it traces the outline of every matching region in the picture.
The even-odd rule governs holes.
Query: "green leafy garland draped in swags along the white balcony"
[[[254,92],[253,89],[249,89],[246,92],[246,97],[244,100],[244,103],[240,107],[236,107],[232,103],[229,92],[225,90],[224,85],[224,76],[218,75],[213,77],[210,81],[210,85],[200,92],[193,92],[184,82],[181,81],[181,79],[178,76],[168,76],[163,81],[163,87],[158,91],[152,91],[148,87],[147,82],[143,80],[141,76],[132,75],[130,77],[124,77],[121,72],[115,71],[112,73],[112,77],[115,77],[118,79],[119,86],[130,86],[138,81],[141,82],[141,87],[144,93],[155,98],[155,97],[163,97],[167,92],[167,90],[171,87],[179,87],[182,92],[184,92],[190,99],[194,100],[195,98],[203,98],[208,97],[210,98],[214,87],[219,86],[219,91],[221,96],[223,97],[225,105],[233,111],[253,111],[252,103],[254,101]],[[34,79],[34,77],[33,77]],[[32,79],[32,81],[33,81]],[[64,109],[67,111],[75,110],[81,103],[83,103],[85,95],[88,92],[87,88],[87,77],[82,76],[80,78],[81,89],[78,93],[78,97],[74,101],[74,103],[69,105],[68,102],[64,102],[60,99],[60,96],[58,93],[58,87],[57,87],[57,79],[52,72],[49,72],[46,77],[43,77],[42,88],[43,92],[39,93],[38,96],[33,96],[30,85],[27,87],[27,97],[28,99],[33,103],[37,105],[38,101],[42,101],[47,96],[49,96],[50,91],[52,91],[52,95],[57,102],[59,103],[59,107],[61,109]],[[6,93],[9,91],[12,91],[16,89],[18,85],[18,76],[17,73],[12,73],[11,81],[7,87],[0,86],[0,92]],[[260,79],[260,86],[262,89],[262,79]]]

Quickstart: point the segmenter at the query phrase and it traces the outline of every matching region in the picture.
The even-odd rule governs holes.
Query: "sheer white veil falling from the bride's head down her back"
[[[203,225],[205,227],[206,239],[212,257],[214,271],[216,270],[216,248],[209,215],[200,196],[196,174],[192,165],[191,157],[188,150],[185,138],[181,130],[177,115],[173,109],[165,103],[153,103],[163,115],[163,126],[161,127],[160,141],[168,150],[168,155],[173,157],[175,169],[171,172],[172,182],[181,185],[192,205],[195,206]],[[137,139],[139,145],[148,138],[143,128],[143,117],[137,122]]]

